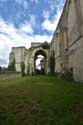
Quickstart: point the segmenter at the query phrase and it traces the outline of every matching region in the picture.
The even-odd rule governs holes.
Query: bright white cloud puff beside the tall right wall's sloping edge
[[[43,30],[47,30],[47,31],[50,31],[50,32],[54,32],[56,27],[57,27],[57,24],[58,24],[58,21],[59,21],[59,18],[61,16],[61,10],[58,11],[58,13],[54,16],[54,19],[53,20],[50,20],[49,19],[49,11],[45,11],[43,13],[43,17],[44,17],[44,21],[42,22],[41,26],[42,26],[42,29]]]

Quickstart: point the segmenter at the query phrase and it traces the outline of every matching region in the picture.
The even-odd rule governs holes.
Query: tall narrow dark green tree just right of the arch
[[[55,52],[52,51],[50,59],[49,59],[49,66],[51,74],[55,73]]]

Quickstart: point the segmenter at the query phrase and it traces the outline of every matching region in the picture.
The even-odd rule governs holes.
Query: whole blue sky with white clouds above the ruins
[[[0,66],[12,47],[51,42],[65,0],[0,0]]]

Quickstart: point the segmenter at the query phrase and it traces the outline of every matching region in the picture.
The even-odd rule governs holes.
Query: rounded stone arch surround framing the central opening
[[[36,71],[35,71],[35,58],[37,57],[37,55],[43,55],[44,58],[45,58],[45,74],[48,73],[48,49],[43,49],[42,47],[37,47],[37,48],[34,48],[31,52],[31,55],[29,57],[29,74],[32,75],[32,74],[36,74]]]

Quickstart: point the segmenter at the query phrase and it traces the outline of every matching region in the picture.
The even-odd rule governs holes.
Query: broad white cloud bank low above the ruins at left
[[[27,35],[28,32],[31,35]],[[2,66],[6,66],[9,60],[11,47],[25,46],[29,48],[31,42],[51,41],[52,36],[48,35],[33,35],[31,24],[25,23],[19,29],[16,29],[13,24],[7,24],[0,18],[0,62]],[[2,61],[1,61],[2,60]]]

